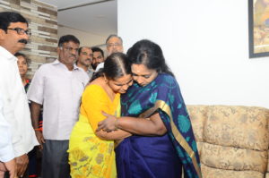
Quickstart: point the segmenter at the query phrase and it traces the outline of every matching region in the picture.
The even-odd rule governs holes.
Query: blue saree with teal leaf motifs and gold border
[[[122,116],[149,117],[159,112],[168,132],[163,136],[134,135],[116,151],[118,178],[201,178],[195,136],[178,82],[159,74],[147,86],[138,84],[121,96]]]

